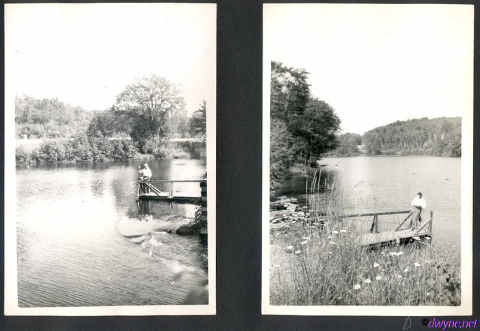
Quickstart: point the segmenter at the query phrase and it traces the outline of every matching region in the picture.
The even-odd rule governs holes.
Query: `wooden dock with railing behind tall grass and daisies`
[[[400,222],[396,229],[392,231],[379,232],[379,216],[392,214],[408,214],[408,216],[402,222]],[[370,214],[343,215],[339,216],[339,218],[357,218],[363,216],[373,216],[370,233],[364,233],[360,240],[361,245],[364,247],[384,247],[392,244],[404,244],[414,240],[422,240],[424,238],[429,238],[431,242],[433,223],[432,211],[430,211],[429,219],[420,222],[420,225],[417,229],[410,229],[408,227],[405,227],[407,221],[411,220],[413,216],[413,212],[411,212],[410,210],[402,212],[381,212]]]

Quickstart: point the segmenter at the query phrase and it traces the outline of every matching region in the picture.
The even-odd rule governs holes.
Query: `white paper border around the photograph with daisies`
[[[461,116],[461,305],[460,306],[273,306],[270,304],[270,240],[269,240],[269,150],[270,150],[270,61],[269,29],[267,16],[269,8],[275,6],[322,5],[349,6],[372,4],[348,3],[264,3],[263,4],[263,139],[262,139],[262,315],[324,315],[324,316],[440,316],[472,315],[472,210],[473,210],[473,32],[474,6],[470,8],[471,21],[471,75],[470,91],[464,91],[471,100],[470,107]],[[389,5],[389,4],[374,4]],[[429,4],[401,4],[408,6],[429,6]],[[446,5],[449,6],[449,5]]]

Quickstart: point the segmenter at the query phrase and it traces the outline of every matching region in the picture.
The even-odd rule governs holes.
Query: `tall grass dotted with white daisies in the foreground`
[[[315,174],[306,187],[305,217],[299,213],[289,227],[270,231],[272,305],[460,304],[457,257],[420,238],[403,246],[361,247],[359,227],[337,217],[341,192],[335,183],[319,194],[322,184]]]

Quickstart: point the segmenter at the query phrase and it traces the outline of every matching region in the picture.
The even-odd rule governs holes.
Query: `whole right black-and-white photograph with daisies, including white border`
[[[471,314],[473,6],[263,27],[262,312]]]

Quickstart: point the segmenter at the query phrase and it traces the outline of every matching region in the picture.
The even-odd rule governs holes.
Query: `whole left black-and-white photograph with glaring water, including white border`
[[[5,315],[215,314],[216,5],[5,5]]]

